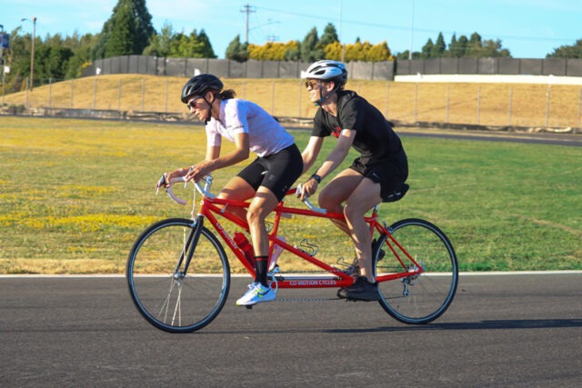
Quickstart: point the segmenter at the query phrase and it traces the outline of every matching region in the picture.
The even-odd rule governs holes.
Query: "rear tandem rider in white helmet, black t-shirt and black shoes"
[[[348,234],[356,248],[359,276],[337,295],[352,300],[379,298],[372,263],[372,242],[364,215],[376,204],[396,201],[408,189],[408,163],[400,139],[383,114],[355,92],[344,90],[346,66],[336,61],[317,61],[306,72],[306,88],[319,106],[309,143],[303,152],[304,172],[315,163],[324,138],[337,138],[326,161],[306,183],[300,196],[316,193],[318,185],[346,158],[350,147],[360,156],[320,192],[318,203],[330,212],[343,213],[346,222],[335,224]]]

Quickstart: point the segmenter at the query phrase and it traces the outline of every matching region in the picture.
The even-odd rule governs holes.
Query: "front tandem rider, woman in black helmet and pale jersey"
[[[215,75],[196,75],[182,90],[182,102],[200,121],[206,123],[206,159],[190,167],[179,168],[166,175],[170,179],[186,176],[197,182],[219,168],[237,164],[257,154],[254,162],[230,179],[219,198],[246,201],[248,210],[228,207],[228,211],[245,218],[249,225],[256,255],[255,282],[236,301],[237,305],[253,305],[276,298],[276,290],[267,284],[269,240],[265,219],[302,174],[303,161],[293,136],[255,103],[234,98],[233,90],[223,90]],[[234,142],[236,149],[220,155],[222,139]]]

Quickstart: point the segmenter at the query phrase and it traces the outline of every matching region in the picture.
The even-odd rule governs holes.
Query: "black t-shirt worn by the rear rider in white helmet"
[[[356,131],[352,146],[360,153],[362,164],[386,160],[396,164],[406,163],[400,138],[384,114],[351,90],[337,94],[337,116],[327,113],[321,107],[317,110],[311,134],[317,137],[330,134],[339,137],[342,129]]]

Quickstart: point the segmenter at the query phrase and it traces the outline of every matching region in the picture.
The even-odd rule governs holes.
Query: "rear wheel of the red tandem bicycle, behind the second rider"
[[[445,313],[457,292],[453,245],[436,225],[425,220],[398,221],[388,231],[394,240],[380,235],[373,253],[376,277],[403,276],[378,283],[380,304],[400,322],[432,322]]]

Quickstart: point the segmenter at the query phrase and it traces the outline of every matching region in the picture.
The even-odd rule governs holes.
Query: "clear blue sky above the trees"
[[[36,16],[36,35],[96,34],[111,16],[117,0],[0,0],[0,25],[7,32],[33,25],[22,18]],[[412,46],[420,51],[439,32],[448,44],[451,36],[479,33],[500,39],[516,58],[543,58],[560,45],[582,38],[581,0],[146,0],[154,27],[170,23],[175,32],[204,29],[216,55],[240,35],[245,39],[248,3],[249,42],[302,41],[311,28],[323,34],[332,23],[343,43],[359,37],[375,45],[386,40],[393,53]],[[414,12],[413,12],[414,9]],[[412,34],[411,34],[412,31]],[[411,39],[412,35],[412,39]],[[411,45],[412,42],[412,45]]]

